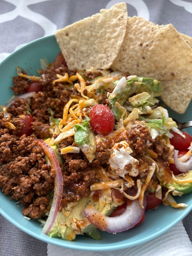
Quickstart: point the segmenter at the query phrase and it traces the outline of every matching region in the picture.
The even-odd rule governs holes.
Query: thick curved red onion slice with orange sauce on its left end
[[[129,201],[130,203],[130,201]],[[86,207],[83,213],[98,229],[109,233],[118,233],[133,228],[142,218],[146,207],[146,197],[143,200],[144,209],[141,208],[139,200],[127,204],[126,210],[119,216],[106,217],[95,209],[93,205]]]

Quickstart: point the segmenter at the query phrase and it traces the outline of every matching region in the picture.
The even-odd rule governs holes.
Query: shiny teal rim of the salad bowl
[[[46,40],[48,38],[53,38],[55,37],[54,35],[48,35],[46,37],[41,37],[41,38],[38,38],[38,39],[35,39],[23,46],[21,46],[19,49],[15,50],[14,52],[10,53],[9,56],[7,56],[5,59],[3,59],[1,62],[0,62],[0,68],[1,66],[9,61],[9,59],[12,58],[12,56],[14,56],[15,54],[17,54],[18,52],[22,52],[23,49],[29,47],[30,45],[38,42],[38,41],[43,41],[43,40]],[[64,248],[70,248],[70,249],[76,249],[76,250],[83,250],[83,251],[113,251],[113,250],[119,250],[119,249],[124,249],[124,248],[128,248],[128,247],[133,247],[133,246],[136,246],[136,245],[139,245],[139,244],[142,244],[142,243],[145,243],[145,242],[148,242],[152,239],[154,239],[155,237],[158,237],[160,235],[162,235],[163,233],[165,233],[166,231],[168,231],[170,228],[172,228],[173,226],[175,226],[179,221],[181,221],[185,216],[187,216],[187,214],[192,210],[192,203],[191,205],[189,205],[185,211],[178,217],[176,218],[174,221],[172,221],[169,225],[167,225],[166,227],[164,227],[163,229],[160,229],[160,230],[157,230],[157,232],[155,232],[155,234],[150,234],[150,235],[147,235],[146,237],[143,237],[141,239],[137,239],[136,241],[132,241],[132,242],[121,242],[120,244],[110,244],[110,245],[106,245],[106,244],[98,244],[98,245],[95,245],[95,246],[91,246],[89,247],[88,246],[88,243],[87,243],[87,246],[86,245],[79,245],[78,244],[78,241],[76,242],[72,242],[72,241],[66,241],[66,240],[62,240],[60,238],[52,238],[52,237],[49,237],[47,235],[39,235],[39,234],[36,234],[34,231],[31,231],[29,230],[28,228],[25,228],[23,225],[21,225],[20,223],[16,222],[14,220],[13,217],[11,217],[10,215],[8,215],[3,209],[1,209],[1,206],[0,206],[0,214],[5,218],[7,219],[9,222],[11,222],[14,226],[16,226],[17,228],[19,228],[20,230],[22,230],[23,232],[27,233],[28,235],[31,235],[32,237],[38,239],[38,240],[41,240],[43,242],[46,242],[46,243],[50,243],[50,244],[53,244],[53,245],[56,245],[56,246],[60,246],[60,247],[64,247]]]

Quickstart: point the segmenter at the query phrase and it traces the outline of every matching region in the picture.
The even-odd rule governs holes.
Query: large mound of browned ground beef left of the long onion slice
[[[27,207],[32,204],[33,207],[27,209],[32,207],[34,211],[29,211],[29,215],[25,211],[28,217],[33,216],[36,206],[39,208],[38,218],[44,215],[45,208],[41,207],[44,203],[40,203],[40,198],[54,189],[55,170],[45,162],[44,152],[32,136],[19,138],[8,133],[1,136],[0,188],[5,195],[10,194],[11,199],[19,200]]]

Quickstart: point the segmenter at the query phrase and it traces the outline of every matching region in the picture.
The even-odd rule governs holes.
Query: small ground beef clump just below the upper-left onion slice
[[[14,102],[8,108],[9,113],[12,116],[18,116],[25,113],[28,110],[29,106],[27,105],[27,101],[23,98],[16,97]]]

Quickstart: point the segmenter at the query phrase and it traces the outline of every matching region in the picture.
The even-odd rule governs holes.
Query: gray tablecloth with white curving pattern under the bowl
[[[110,8],[118,0],[0,0],[0,61],[16,47],[54,34],[82,18]],[[172,23],[192,36],[192,1],[124,0],[129,16],[141,16],[159,25]],[[1,203],[0,203],[1,204]],[[192,212],[183,220],[192,241]],[[0,215],[0,256],[46,256],[47,244],[14,227]]]

